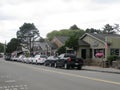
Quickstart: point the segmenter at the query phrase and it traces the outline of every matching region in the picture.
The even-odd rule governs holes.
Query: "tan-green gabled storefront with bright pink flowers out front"
[[[102,65],[110,55],[120,56],[120,35],[86,33],[79,39],[78,57]]]

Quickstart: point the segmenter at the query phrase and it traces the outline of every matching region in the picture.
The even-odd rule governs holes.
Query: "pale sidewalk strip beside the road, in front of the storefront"
[[[120,74],[120,69],[115,69],[115,68],[102,68],[102,67],[97,67],[97,66],[83,66],[82,69],[88,70],[88,71]]]

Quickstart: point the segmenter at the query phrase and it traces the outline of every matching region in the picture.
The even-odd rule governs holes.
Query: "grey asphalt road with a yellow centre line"
[[[0,90],[120,90],[120,75],[0,59]]]

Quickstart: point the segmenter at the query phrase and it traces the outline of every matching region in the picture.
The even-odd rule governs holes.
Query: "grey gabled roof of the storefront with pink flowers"
[[[93,38],[97,38],[97,39],[99,39],[99,40],[101,40],[103,42],[105,42],[105,38],[106,37],[120,37],[120,35],[118,35],[118,34],[94,34],[94,33],[86,33],[86,34],[84,34],[81,37],[81,39],[84,38],[86,35],[89,35],[89,36],[91,36]]]

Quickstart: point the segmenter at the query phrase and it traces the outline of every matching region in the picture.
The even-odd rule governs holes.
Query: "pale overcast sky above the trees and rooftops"
[[[102,29],[120,24],[120,0],[0,0],[0,42],[9,42],[24,22],[34,23],[40,35],[67,29]]]

